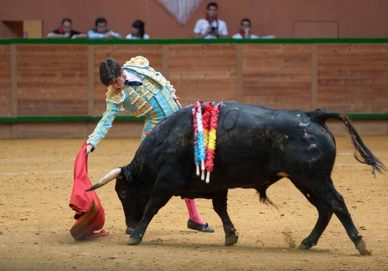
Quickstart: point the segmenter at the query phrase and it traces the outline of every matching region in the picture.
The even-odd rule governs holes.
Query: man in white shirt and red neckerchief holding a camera
[[[206,7],[206,18],[199,19],[194,27],[194,38],[219,38],[228,35],[226,23],[218,20],[218,5],[217,3],[208,3]]]

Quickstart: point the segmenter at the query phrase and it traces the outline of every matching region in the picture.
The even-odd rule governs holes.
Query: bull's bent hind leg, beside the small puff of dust
[[[315,224],[314,229],[312,230],[310,235],[307,236],[307,238],[305,238],[301,242],[301,244],[298,247],[298,249],[310,249],[310,247],[317,245],[318,239],[322,235],[327,224],[329,224],[331,216],[333,215],[333,211],[322,201],[320,201],[319,198],[315,196],[315,194],[311,190],[305,187],[301,187],[298,183],[295,183],[294,181],[293,183],[296,186],[296,188],[298,188],[300,192],[302,192],[303,195],[305,195],[306,199],[312,205],[314,205],[318,210],[318,220],[317,220],[317,223]]]

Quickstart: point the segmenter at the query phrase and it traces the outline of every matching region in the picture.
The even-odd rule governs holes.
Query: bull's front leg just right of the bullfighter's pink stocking
[[[227,196],[228,190],[221,191],[215,195],[213,197],[213,207],[214,211],[221,217],[223,230],[225,231],[225,245],[234,245],[237,243],[239,236],[236,234],[236,229],[232,221],[230,221],[227,212]]]

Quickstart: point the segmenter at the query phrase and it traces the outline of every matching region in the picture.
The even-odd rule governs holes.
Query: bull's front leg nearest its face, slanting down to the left
[[[137,224],[135,227],[135,230],[132,231],[128,242],[126,243],[127,245],[137,245],[142,242],[145,230],[147,229],[148,224],[151,222],[152,217],[158,213],[161,207],[166,205],[172,196],[173,193],[170,193],[169,190],[154,186],[151,197],[148,200],[147,205],[145,205],[143,217],[139,224]]]

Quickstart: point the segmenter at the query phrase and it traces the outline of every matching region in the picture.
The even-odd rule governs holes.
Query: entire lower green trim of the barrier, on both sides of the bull
[[[388,114],[345,114],[351,119],[388,119]],[[94,116],[31,116],[31,117],[0,117],[0,123],[15,123],[21,121],[99,121],[101,117]],[[115,120],[135,121],[145,117],[116,116]]]

